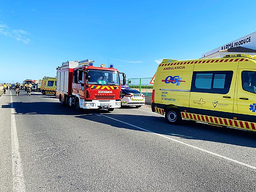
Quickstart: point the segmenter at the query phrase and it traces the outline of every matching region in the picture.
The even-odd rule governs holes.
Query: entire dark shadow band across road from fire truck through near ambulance
[[[54,98],[54,96],[52,98]],[[76,112],[74,109],[70,109],[68,106],[61,106],[60,102],[51,101],[52,100],[49,100],[49,102],[13,102],[13,105],[17,115],[71,115],[76,118],[108,124],[116,128],[144,131],[114,120],[117,119],[158,134],[256,148],[256,134],[254,132],[211,126],[189,120],[183,120],[179,125],[170,125],[165,121],[163,116],[150,116],[150,113],[148,112],[145,112],[145,115],[143,113],[138,115],[138,110],[136,110],[134,107],[127,108],[131,111],[134,110],[134,112],[136,110],[136,114],[134,115],[114,114],[108,112],[107,110],[86,110],[81,114]],[[2,105],[2,108],[10,108],[10,104],[6,103]],[[104,116],[88,115],[93,113],[102,114],[114,119]]]

